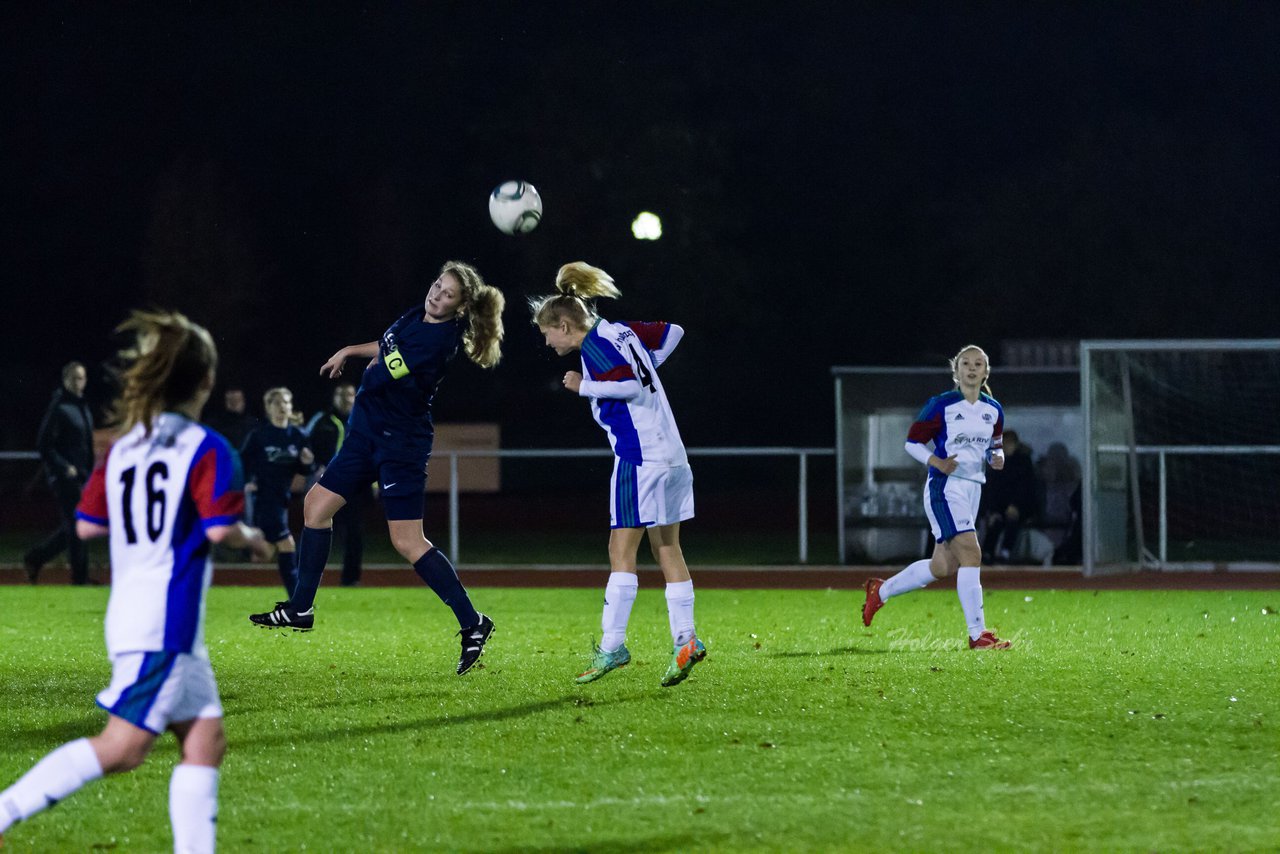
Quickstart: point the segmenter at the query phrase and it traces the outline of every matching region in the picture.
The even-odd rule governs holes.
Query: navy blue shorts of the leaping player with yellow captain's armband
[[[389,521],[422,519],[426,461],[431,451],[385,448],[361,433],[349,433],[317,481],[351,502],[351,497],[378,481]]]

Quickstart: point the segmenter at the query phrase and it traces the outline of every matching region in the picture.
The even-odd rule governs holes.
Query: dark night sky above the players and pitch
[[[524,309],[576,259],[622,287],[605,316],[687,328],[695,446],[829,444],[835,364],[1277,334],[1276,4],[172,5],[0,19],[6,448],[148,302],[312,410],[449,257],[508,344],[436,415],[509,446],[602,442]],[[532,234],[489,224],[507,178]]]

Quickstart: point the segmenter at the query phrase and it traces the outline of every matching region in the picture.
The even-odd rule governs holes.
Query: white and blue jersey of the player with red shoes
[[[933,443],[933,456],[940,460],[954,458],[956,470],[952,478],[987,483],[987,461],[991,452],[1000,451],[1004,444],[1005,410],[989,394],[980,393],[970,403],[960,392],[945,392],[931,397],[915,423],[906,434],[908,453],[911,446],[923,448]],[[916,456],[918,453],[911,453]],[[923,453],[928,458],[928,452]],[[931,478],[946,478],[929,466]]]

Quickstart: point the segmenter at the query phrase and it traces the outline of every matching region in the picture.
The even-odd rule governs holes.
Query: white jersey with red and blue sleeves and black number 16
[[[239,465],[218,433],[182,415],[136,425],[84,487],[77,517],[110,529],[106,649],[205,650],[205,590],[212,579],[209,528],[244,506]]]

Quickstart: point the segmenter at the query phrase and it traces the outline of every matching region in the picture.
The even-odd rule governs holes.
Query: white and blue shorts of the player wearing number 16
[[[170,723],[221,717],[209,658],[188,653],[137,652],[111,658],[111,684],[97,704],[134,726],[160,734]]]

